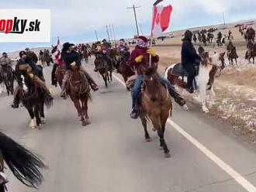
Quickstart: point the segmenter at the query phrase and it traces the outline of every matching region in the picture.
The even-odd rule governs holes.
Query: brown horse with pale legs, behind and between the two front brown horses
[[[94,62],[96,69],[103,78],[105,86],[108,87],[108,82],[110,83],[112,81],[112,66],[101,56],[96,56]]]

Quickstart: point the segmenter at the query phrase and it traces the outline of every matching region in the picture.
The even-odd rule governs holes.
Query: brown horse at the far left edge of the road
[[[2,81],[5,84],[7,94],[13,94],[14,75],[12,72],[12,67],[2,65],[0,76],[2,76]]]

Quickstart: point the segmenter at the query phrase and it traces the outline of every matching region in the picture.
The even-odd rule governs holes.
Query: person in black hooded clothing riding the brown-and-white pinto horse
[[[195,47],[192,44],[193,33],[189,30],[185,31],[185,37],[182,39],[182,67],[188,73],[188,81],[186,90],[189,93],[194,92],[192,85],[196,75],[196,66],[199,65],[201,57],[196,53]]]

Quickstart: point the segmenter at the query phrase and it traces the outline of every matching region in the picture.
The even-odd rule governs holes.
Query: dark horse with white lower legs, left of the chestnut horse
[[[43,77],[42,71],[40,74],[41,78]],[[45,123],[44,105],[50,108],[53,105],[53,101],[51,98],[47,97],[47,94],[42,88],[33,81],[27,80],[26,85],[28,88],[27,91],[24,91],[22,87],[16,88],[17,100],[21,101],[22,105],[25,106],[26,110],[29,112],[31,118],[29,128],[41,129],[41,125]]]

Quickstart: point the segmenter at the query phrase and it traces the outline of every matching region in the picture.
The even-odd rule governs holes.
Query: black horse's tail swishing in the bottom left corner
[[[47,166],[36,154],[20,146],[2,132],[0,132],[0,150],[3,159],[18,180],[28,187],[40,186],[43,182],[40,169]]]

